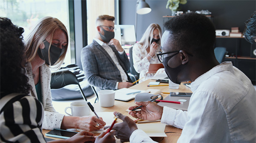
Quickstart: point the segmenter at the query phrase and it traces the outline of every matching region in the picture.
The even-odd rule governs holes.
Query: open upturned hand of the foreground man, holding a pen
[[[163,107],[151,101],[135,102],[135,104],[137,104],[137,106],[132,106],[128,108],[129,110],[135,110],[135,111],[129,111],[129,114],[132,117],[147,120],[147,121],[155,121],[155,120],[161,119],[163,114]],[[140,107],[141,109],[140,111],[136,111],[136,108],[138,107]]]

